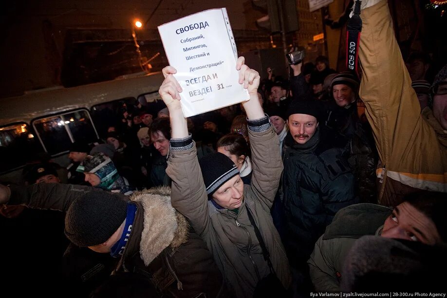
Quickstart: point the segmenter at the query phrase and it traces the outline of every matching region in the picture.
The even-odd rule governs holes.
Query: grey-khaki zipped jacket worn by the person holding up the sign
[[[282,171],[278,136],[269,125],[263,132],[250,129],[249,138],[253,174],[251,185],[244,185],[238,213],[218,209],[208,201],[195,146],[171,150],[166,170],[172,179],[172,205],[206,242],[231,293],[238,298],[252,297],[258,282],[270,273],[247,209],[258,225],[279,280],[285,288],[291,281],[288,260],[270,215]]]

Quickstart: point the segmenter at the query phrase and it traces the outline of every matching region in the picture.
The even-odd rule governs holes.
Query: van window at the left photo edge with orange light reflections
[[[19,168],[42,151],[34,131],[26,123],[0,128],[0,172]]]

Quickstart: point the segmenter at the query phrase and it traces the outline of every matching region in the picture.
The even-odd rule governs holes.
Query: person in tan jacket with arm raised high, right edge
[[[433,82],[432,108],[421,113],[387,1],[362,1],[361,19],[359,95],[380,159],[379,203],[398,205],[418,189],[447,192],[447,66]]]

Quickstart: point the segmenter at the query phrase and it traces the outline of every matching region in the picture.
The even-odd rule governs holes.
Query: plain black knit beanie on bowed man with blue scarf
[[[106,242],[124,222],[127,203],[109,192],[91,191],[77,198],[65,217],[65,236],[78,246]]]

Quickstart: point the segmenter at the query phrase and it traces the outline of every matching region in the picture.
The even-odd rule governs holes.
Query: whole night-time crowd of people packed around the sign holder
[[[403,60],[387,1],[362,20],[360,77],[319,56],[261,80],[239,57],[250,99],[188,119],[167,66],[164,105],[123,102],[67,169],[0,185],[8,235],[51,210],[40,241],[73,297],[443,289],[447,65],[428,81],[428,55]]]

